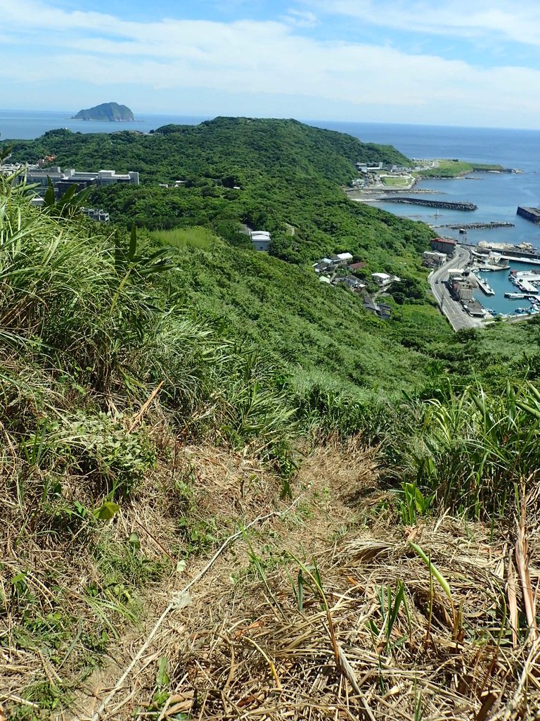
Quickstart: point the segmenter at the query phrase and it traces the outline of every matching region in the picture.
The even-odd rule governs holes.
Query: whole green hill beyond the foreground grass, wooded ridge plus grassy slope
[[[81,169],[140,169],[142,185],[96,190],[92,203],[117,224],[150,231],[154,247],[174,247],[174,292],[299,377],[323,373],[325,382],[395,394],[436,384],[441,374],[459,385],[470,373],[495,375],[495,329],[485,342],[460,342],[428,296],[420,264],[428,226],[354,203],[341,190],[358,160],[406,162],[389,146],[295,120],[249,118],[168,125],[146,136],[51,131],[14,144],[14,159],[45,154]],[[183,182],[160,186],[175,180]],[[271,231],[269,257],[253,252],[241,224]],[[197,236],[193,226],[210,238],[203,247],[184,242]],[[366,313],[361,296],[318,282],[312,262],[343,251],[366,264],[368,287],[371,273],[401,278],[387,298],[389,322]]]

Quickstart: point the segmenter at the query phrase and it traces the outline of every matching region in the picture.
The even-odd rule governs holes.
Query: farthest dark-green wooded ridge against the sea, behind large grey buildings
[[[361,143],[344,133],[313,128],[297,120],[254,118],[165,125],[149,135],[57,130],[37,140],[17,141],[13,146],[17,160],[30,161],[46,155],[55,155],[55,164],[62,167],[114,167],[119,172],[138,169],[143,182],[171,182],[192,176],[234,177],[241,181],[270,174],[283,180],[322,176],[347,183],[353,164],[359,160],[408,162],[392,146]]]

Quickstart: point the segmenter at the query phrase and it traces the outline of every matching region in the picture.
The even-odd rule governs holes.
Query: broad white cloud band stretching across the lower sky
[[[318,98],[320,118],[330,118],[332,105],[346,105],[358,109],[358,119],[365,108],[378,107],[379,120],[395,122],[438,117],[443,124],[461,118],[464,125],[532,127],[538,113],[531,89],[539,87],[540,71],[478,68],[384,45],[316,40],[286,22],[128,22],[38,0],[0,0],[0,14],[17,40],[4,46],[17,53],[17,62],[1,63],[0,76],[23,90],[50,79],[59,92],[62,82],[130,85],[138,89],[140,105],[152,90],[170,91],[171,99],[183,89],[266,95],[279,97],[285,114],[296,117],[306,117],[302,108],[312,108]]]

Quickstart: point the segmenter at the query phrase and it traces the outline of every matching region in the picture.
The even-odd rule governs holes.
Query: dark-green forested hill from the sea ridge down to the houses
[[[360,260],[390,262],[405,247],[423,249],[431,237],[426,226],[352,203],[339,189],[354,177],[356,161],[407,162],[402,154],[296,120],[216,118],[153,135],[60,130],[14,143],[15,161],[45,156],[60,167],[138,170],[140,187],[107,187],[91,198],[114,222],[209,225],[237,244],[245,242],[239,231],[247,223],[271,231],[271,252],[293,262],[343,249]],[[184,185],[159,187],[176,180]]]

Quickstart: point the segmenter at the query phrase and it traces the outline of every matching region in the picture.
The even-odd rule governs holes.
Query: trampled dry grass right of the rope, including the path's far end
[[[540,642],[528,638],[519,577],[515,644],[508,610],[516,531],[449,517],[388,527],[374,505],[380,492],[364,499],[372,520],[361,523],[375,469],[361,448],[315,451],[297,508],[218,559],[103,717],[539,718]],[[526,536],[536,604],[538,528]]]

